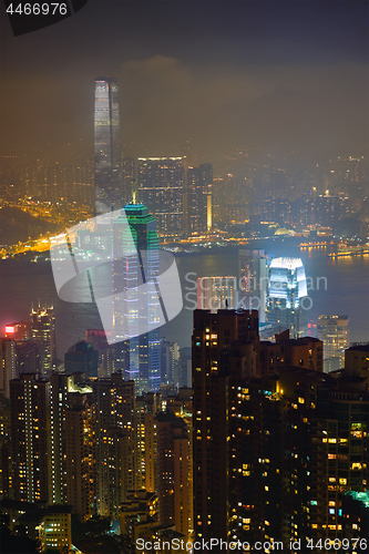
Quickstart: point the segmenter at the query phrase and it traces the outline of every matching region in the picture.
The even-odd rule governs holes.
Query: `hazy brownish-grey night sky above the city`
[[[119,78],[127,154],[369,146],[363,1],[90,0],[16,38],[1,4],[1,31],[3,152],[92,154],[94,75]]]

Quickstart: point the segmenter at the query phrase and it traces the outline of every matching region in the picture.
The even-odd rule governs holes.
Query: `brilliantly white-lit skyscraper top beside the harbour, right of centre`
[[[275,258],[269,266],[267,319],[289,329],[294,337],[307,335],[307,283],[300,258]]]

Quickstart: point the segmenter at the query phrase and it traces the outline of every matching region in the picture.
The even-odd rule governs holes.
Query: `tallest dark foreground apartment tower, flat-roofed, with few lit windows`
[[[230,376],[223,352],[232,342],[246,343],[239,360],[256,371],[258,314],[246,310],[194,311],[192,339],[194,433],[194,530],[196,537],[228,536],[228,404]]]

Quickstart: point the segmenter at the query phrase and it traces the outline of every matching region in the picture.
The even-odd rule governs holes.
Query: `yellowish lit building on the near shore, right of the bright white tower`
[[[342,368],[349,347],[349,316],[319,316],[317,336],[325,345],[325,371]]]

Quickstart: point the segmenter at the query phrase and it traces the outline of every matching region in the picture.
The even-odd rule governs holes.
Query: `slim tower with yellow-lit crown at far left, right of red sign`
[[[32,309],[30,325],[32,337],[40,346],[41,372],[50,375],[57,358],[53,308]]]

